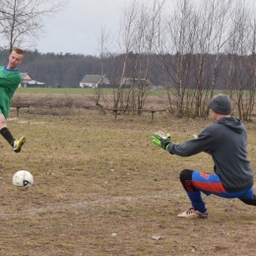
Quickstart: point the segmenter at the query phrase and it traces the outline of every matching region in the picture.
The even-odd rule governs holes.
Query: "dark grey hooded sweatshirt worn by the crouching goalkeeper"
[[[247,133],[242,122],[234,117],[223,117],[206,127],[195,140],[171,144],[172,155],[190,157],[201,152],[210,154],[215,172],[220,175],[227,192],[239,192],[253,186],[253,171],[247,159]]]

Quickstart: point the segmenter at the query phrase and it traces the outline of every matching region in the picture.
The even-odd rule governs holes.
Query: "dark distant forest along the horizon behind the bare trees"
[[[172,77],[176,75],[178,66],[179,53],[174,55],[171,54],[152,54],[150,55],[151,63],[149,65],[148,80],[151,85],[156,88],[166,87],[166,81],[162,77],[162,64],[165,65],[165,69],[168,70],[168,76]],[[0,65],[4,66],[7,64],[9,56],[9,51],[0,50]],[[141,55],[140,58],[144,58],[145,62],[147,55]],[[202,54],[185,54],[183,56],[185,62],[193,62],[195,67],[199,67],[202,58],[206,57]],[[248,68],[253,60],[253,54],[238,56],[231,54],[220,54],[220,67],[218,71],[218,79],[216,82],[215,89],[217,90],[230,90],[230,85],[227,83],[226,74],[230,72],[226,63],[234,58],[240,58],[243,65],[240,71],[240,76],[243,77],[244,84],[250,83],[250,72]],[[132,78],[136,80],[138,76],[134,74],[136,65],[136,60],[138,58],[137,53],[129,52],[127,54],[127,67],[125,77]],[[208,54],[208,65],[205,68],[205,73],[208,76],[211,75],[211,71],[214,69],[215,60],[217,58],[216,54]],[[123,54],[108,54],[104,60],[104,75],[106,75],[112,86],[115,87],[119,84],[122,75],[122,63],[125,59]],[[161,62],[162,61],[162,62]],[[71,54],[71,53],[39,53],[35,51],[26,51],[23,63],[19,67],[20,71],[23,73],[29,73],[32,79],[46,83],[47,87],[61,87],[61,88],[78,88],[81,80],[85,75],[100,75],[101,72],[101,60],[98,56],[92,55],[82,55],[82,54]],[[184,87],[186,89],[196,89],[197,88],[197,76],[193,74],[191,69],[189,72],[190,79]],[[188,75],[188,74],[187,74]],[[144,77],[141,77],[144,78]],[[170,83],[169,88],[175,88],[175,84]],[[231,89],[237,87],[231,85]],[[202,85],[202,89],[206,90],[209,88],[208,80]],[[246,89],[246,87],[244,87]],[[248,88],[249,89],[249,88]]]

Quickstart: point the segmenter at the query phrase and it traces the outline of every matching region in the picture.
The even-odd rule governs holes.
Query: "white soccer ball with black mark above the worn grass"
[[[19,170],[13,176],[13,184],[20,190],[27,190],[32,187],[33,177],[28,170]]]

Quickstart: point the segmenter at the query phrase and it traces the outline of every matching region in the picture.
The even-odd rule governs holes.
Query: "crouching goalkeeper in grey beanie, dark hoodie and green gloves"
[[[230,115],[231,101],[226,95],[210,100],[210,114],[216,123],[206,127],[196,139],[183,144],[171,142],[170,136],[158,132],[152,136],[153,143],[171,155],[190,157],[201,152],[212,156],[214,174],[194,169],[180,172],[182,183],[191,207],[178,215],[181,218],[208,218],[201,192],[223,198],[238,198],[243,203],[256,206],[253,193],[253,171],[247,159],[247,133],[242,122]]]

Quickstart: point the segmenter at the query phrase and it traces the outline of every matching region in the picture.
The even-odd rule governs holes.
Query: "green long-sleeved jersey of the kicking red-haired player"
[[[0,109],[7,119],[10,111],[11,98],[22,82],[20,71],[0,66]]]

